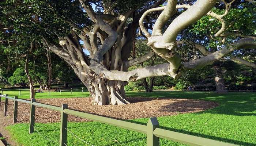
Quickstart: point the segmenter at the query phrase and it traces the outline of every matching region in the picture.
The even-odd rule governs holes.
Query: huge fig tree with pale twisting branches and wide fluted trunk
[[[246,6],[244,3],[255,3],[247,1],[28,0],[21,4],[26,6],[16,12],[21,16],[16,17],[14,24],[18,31],[37,34],[35,38],[64,59],[89,89],[93,103],[128,104],[124,92],[127,81],[164,75],[178,78],[184,70],[210,65],[233,51],[256,48],[253,29],[246,33],[226,32],[229,26],[225,16],[229,14],[231,5],[243,8]],[[215,13],[212,11],[215,7],[223,8],[225,12]],[[176,51],[178,44],[186,43],[180,40],[181,32],[205,16],[211,16],[216,23],[221,22],[221,28],[217,27],[218,32],[210,35],[210,39],[221,39],[223,44],[215,51],[208,51],[207,46],[195,40],[192,44],[204,56],[182,62]],[[202,25],[203,30],[207,30],[207,25]],[[130,58],[137,33],[147,39],[147,45],[153,52]],[[84,49],[89,51],[90,57],[85,55]],[[140,64],[155,54],[169,63],[127,71],[130,66]],[[252,64],[244,59],[241,62]]]

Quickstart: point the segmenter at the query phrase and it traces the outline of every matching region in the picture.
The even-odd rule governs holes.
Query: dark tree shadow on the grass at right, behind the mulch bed
[[[224,114],[224,115],[236,115],[236,116],[256,116],[253,111],[256,111],[256,93],[255,92],[228,92],[226,94],[218,94],[215,92],[181,92],[181,91],[156,91],[152,93],[145,92],[128,92],[127,96],[143,96],[143,97],[169,97],[169,98],[181,98],[181,99],[197,99],[208,100],[219,103],[218,107],[211,110],[206,110],[203,113],[211,114]],[[196,102],[196,101],[194,101]],[[162,110],[168,110],[172,107],[172,104],[162,107]],[[187,108],[182,104],[180,107]],[[181,108],[179,108],[182,110]],[[179,109],[176,109],[177,111]],[[197,114],[200,114],[198,112]]]

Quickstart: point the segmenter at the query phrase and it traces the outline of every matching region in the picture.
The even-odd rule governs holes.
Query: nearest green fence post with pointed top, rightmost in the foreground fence
[[[157,118],[150,118],[147,122],[147,146],[159,146],[159,137],[153,134],[155,128],[159,127]]]

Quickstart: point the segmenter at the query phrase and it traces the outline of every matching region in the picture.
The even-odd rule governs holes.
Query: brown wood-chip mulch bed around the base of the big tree
[[[107,116],[114,119],[136,119],[159,116],[170,116],[191,112],[199,112],[214,108],[218,103],[204,100],[177,99],[177,98],[146,98],[146,97],[129,97],[131,104],[127,105],[91,105],[89,98],[59,98],[59,99],[37,99],[37,102],[61,106],[68,104],[68,108],[87,112],[90,114]],[[9,100],[8,116],[13,115],[14,102]],[[4,110],[3,100],[1,102],[1,114]],[[48,123],[60,122],[60,112],[51,111],[46,108],[36,107],[35,122]],[[30,105],[18,103],[18,120],[19,122],[29,122]],[[88,119],[79,118],[69,115],[70,122],[87,122]]]

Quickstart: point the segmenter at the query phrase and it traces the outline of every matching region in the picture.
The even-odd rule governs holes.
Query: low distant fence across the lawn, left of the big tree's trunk
[[[1,95],[4,95],[4,92],[8,92],[8,91],[18,91],[19,92],[19,96],[21,96],[22,95],[22,91],[30,91],[30,90],[21,90],[21,89],[19,89],[19,90],[4,90],[4,89],[1,89],[0,90]],[[41,91],[41,92],[38,92],[38,91]],[[59,91],[55,91],[54,89],[48,89],[48,90],[35,89],[35,93],[34,94],[36,95],[37,93],[42,93],[42,92],[46,93],[46,92],[48,92],[48,95],[50,95],[50,92],[59,92],[60,95],[61,95],[61,93],[65,92],[65,91],[69,91],[72,94],[73,92],[78,92],[78,91],[83,93],[83,92],[88,91],[88,89],[87,88],[81,88],[81,89],[72,89],[71,88],[71,89],[63,90],[63,89],[60,88]]]

